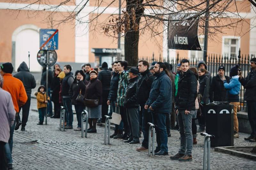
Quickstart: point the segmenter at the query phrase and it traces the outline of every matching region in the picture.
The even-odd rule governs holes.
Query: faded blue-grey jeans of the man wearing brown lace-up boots
[[[196,113],[191,110],[188,115],[185,115],[185,110],[179,110],[177,119],[180,128],[180,154],[191,155],[193,147],[192,135],[192,117]]]

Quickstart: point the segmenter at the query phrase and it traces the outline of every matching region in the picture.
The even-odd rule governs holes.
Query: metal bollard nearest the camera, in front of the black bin
[[[210,152],[211,152],[211,138],[214,138],[214,135],[209,135],[208,133],[201,132],[201,135],[204,136],[204,164],[203,170],[206,169],[206,148],[207,148],[207,170],[210,170]]]

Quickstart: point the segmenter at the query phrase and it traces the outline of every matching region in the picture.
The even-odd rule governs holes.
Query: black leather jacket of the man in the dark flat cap
[[[126,108],[138,108],[139,103],[137,101],[137,83],[138,77],[132,78],[129,81],[129,84],[126,88],[125,96],[124,96],[124,107]]]

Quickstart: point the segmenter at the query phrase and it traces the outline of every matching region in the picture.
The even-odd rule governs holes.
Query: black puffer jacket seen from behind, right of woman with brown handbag
[[[98,74],[98,79],[102,83],[102,90],[110,90],[110,82],[111,82],[111,71],[108,68],[102,68],[102,70]]]

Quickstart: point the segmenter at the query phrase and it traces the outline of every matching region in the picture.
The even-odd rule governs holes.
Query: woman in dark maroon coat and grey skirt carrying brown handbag
[[[87,100],[98,100],[97,106],[86,106],[86,111],[89,113],[89,129],[88,133],[97,133],[96,123],[101,118],[101,104],[102,104],[102,84],[97,79],[98,72],[95,70],[90,71],[90,81],[86,86],[85,99]]]

